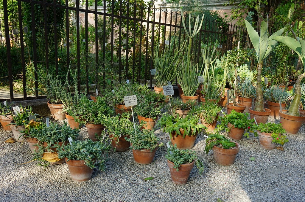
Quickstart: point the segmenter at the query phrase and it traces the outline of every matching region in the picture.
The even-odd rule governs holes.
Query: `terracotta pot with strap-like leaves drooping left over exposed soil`
[[[236,155],[239,152],[239,144],[231,142],[230,139],[218,133],[210,134],[206,139],[206,147],[204,151],[206,154],[213,149],[214,160],[217,164],[222,166],[230,166],[234,163]]]

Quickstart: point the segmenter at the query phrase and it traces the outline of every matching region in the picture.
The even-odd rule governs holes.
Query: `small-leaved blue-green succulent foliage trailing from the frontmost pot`
[[[167,148],[165,158],[174,163],[174,168],[177,171],[179,170],[180,165],[192,163],[193,161],[195,161],[199,173],[203,173],[204,171],[203,163],[197,157],[195,151],[189,149],[178,149],[176,144]]]

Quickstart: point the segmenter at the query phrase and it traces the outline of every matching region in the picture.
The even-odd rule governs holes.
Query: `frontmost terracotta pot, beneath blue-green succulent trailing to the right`
[[[182,164],[177,171],[177,169],[174,168],[174,163],[170,160],[167,160],[167,166],[170,168],[170,178],[172,182],[181,185],[186,184],[188,182],[188,176],[194,167],[194,163],[195,161],[188,164]]]

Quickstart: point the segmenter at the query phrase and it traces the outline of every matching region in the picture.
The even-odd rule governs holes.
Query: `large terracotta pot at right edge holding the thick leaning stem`
[[[289,134],[297,134],[305,121],[305,114],[300,113],[301,116],[291,116],[284,114],[287,110],[279,111],[280,122],[282,122],[283,128]]]

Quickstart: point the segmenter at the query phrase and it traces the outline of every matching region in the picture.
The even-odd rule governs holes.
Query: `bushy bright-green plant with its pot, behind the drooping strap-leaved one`
[[[228,132],[229,138],[241,140],[244,132],[247,131],[245,135],[248,135],[248,131],[253,125],[254,119],[248,119],[249,117],[249,113],[243,114],[233,109],[230,114],[218,117],[221,123],[217,128]]]

